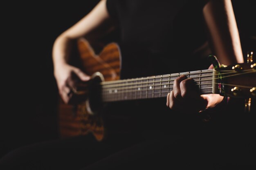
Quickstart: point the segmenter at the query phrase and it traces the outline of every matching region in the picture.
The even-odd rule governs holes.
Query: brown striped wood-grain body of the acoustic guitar
[[[105,81],[120,78],[120,52],[115,43],[108,44],[103,51],[96,55],[85,39],[80,39],[77,44],[81,70],[86,74],[100,72]],[[60,102],[59,127],[62,138],[86,135],[89,132],[101,141],[105,135],[103,120],[99,115],[91,115],[87,111],[86,102],[72,106]]]

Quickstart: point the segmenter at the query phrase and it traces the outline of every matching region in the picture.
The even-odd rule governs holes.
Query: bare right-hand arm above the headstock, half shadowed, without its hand
[[[211,0],[203,9],[213,51],[221,64],[243,63],[243,53],[231,0]]]

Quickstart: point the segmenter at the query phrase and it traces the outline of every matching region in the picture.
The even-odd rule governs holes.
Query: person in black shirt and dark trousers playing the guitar
[[[69,61],[74,57],[71,53],[72,46],[81,38],[104,35],[115,29],[120,31],[118,48],[121,51],[121,68],[120,73],[114,71],[109,76],[115,77],[112,80],[117,80],[115,86],[123,86],[123,79],[135,84],[141,80],[140,83],[147,84],[148,88],[145,98],[148,98],[148,92],[157,81],[152,82],[151,86],[148,85],[150,82],[144,82],[143,79],[136,80],[137,77],[150,79],[149,76],[161,75],[162,81],[164,75],[169,74],[170,77],[170,73],[207,68],[212,73],[213,67],[218,67],[218,64],[215,61],[210,66],[203,58],[209,54],[216,55],[220,64],[227,66],[244,62],[231,0],[101,0],[88,15],[59,35],[54,42],[54,76],[65,104],[78,104],[73,99],[79,84],[82,82],[86,85],[94,80],[92,73],[85,73],[89,67],[97,67],[95,63],[101,63],[106,69],[110,67],[109,63],[101,60],[100,55],[91,58],[97,62],[84,62],[87,68],[70,64]],[[79,43],[78,46],[81,47],[87,41],[82,40]],[[116,46],[111,48],[110,53],[117,51]],[[80,51],[85,54],[81,55],[83,58],[87,54],[95,55],[90,47],[86,50],[80,48]],[[252,64],[252,69],[254,67]],[[234,66],[234,70],[239,71],[240,68],[238,65]],[[195,88],[196,81],[193,76],[189,78],[188,75],[190,74],[178,74],[175,80],[167,80],[173,83],[168,84],[171,91],[166,93],[164,100],[110,102],[110,107],[103,109],[108,113],[112,112],[103,114],[107,120],[104,126],[108,128],[106,139],[100,136],[97,141],[81,136],[66,139],[64,142],[39,144],[26,149],[28,153],[31,150],[37,153],[29,157],[29,160],[33,165],[46,165],[48,169],[145,169],[166,166],[170,169],[173,166],[188,169],[192,165],[190,163],[195,165],[194,168],[207,169],[204,163],[209,163],[206,166],[211,167],[214,163],[236,164],[237,160],[241,163],[253,162],[247,159],[253,160],[247,154],[255,152],[255,143],[243,130],[241,131],[244,136],[231,136],[231,126],[221,129],[224,127],[221,125],[222,120],[210,121],[207,124],[196,117],[211,111],[214,116],[223,109],[221,106],[226,100],[219,94],[200,93]],[[157,78],[159,77],[155,76],[154,80]],[[101,85],[107,88],[108,81]],[[166,88],[165,85],[159,86]],[[137,91],[142,91],[143,85],[135,87]],[[105,92],[117,94],[120,88],[122,87]],[[253,88],[252,91],[254,94]],[[138,94],[141,98],[144,95],[143,92],[135,94],[135,98],[138,98]],[[161,96],[161,91],[159,94]],[[127,99],[128,96],[120,95],[117,99],[122,97]],[[100,104],[96,102],[95,105],[97,107]],[[209,128],[211,125],[213,128]],[[243,145],[245,141],[248,147]],[[253,147],[254,150],[248,149]],[[24,163],[27,156],[22,153],[16,155],[19,161],[13,165],[16,168],[27,167]],[[42,161],[44,156],[46,159]],[[49,161],[50,158],[54,162]],[[4,159],[8,160],[8,156]]]

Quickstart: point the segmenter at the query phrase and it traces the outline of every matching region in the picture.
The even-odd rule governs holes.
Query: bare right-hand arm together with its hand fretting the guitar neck
[[[203,13],[213,51],[220,63],[242,63],[243,54],[231,0],[211,0],[205,5]],[[166,105],[182,112],[200,112],[217,106],[223,99],[220,95],[200,95],[191,88],[193,86],[193,80],[187,79],[186,76],[175,79],[173,91],[168,94]]]

